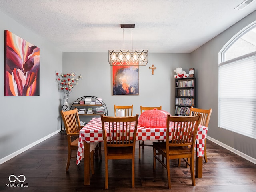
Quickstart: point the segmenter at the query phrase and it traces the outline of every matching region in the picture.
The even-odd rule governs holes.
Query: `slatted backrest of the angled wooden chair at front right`
[[[167,115],[166,122],[166,153],[169,147],[191,146],[194,150],[196,133],[200,121],[200,114],[197,116],[170,116]],[[172,130],[168,129],[173,124]],[[171,136],[171,137],[169,137]]]

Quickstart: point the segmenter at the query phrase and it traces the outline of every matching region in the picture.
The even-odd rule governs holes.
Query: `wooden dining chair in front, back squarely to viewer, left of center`
[[[132,160],[132,188],[135,188],[135,143],[138,117],[109,117],[101,115],[104,154],[105,154],[105,189],[108,189],[108,160]],[[116,135],[118,133],[118,135]]]

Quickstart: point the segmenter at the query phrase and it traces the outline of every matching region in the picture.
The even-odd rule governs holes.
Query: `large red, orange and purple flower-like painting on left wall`
[[[38,96],[40,48],[5,30],[4,96]]]

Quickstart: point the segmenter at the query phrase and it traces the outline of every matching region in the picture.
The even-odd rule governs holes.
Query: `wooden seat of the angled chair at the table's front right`
[[[166,143],[165,142],[153,142],[153,146],[154,146],[154,148],[156,148],[156,150],[158,150],[158,152],[166,153]],[[187,146],[170,147],[169,148],[169,155],[170,156],[182,156],[182,155],[185,155],[187,157],[188,154],[191,154],[191,150]],[[176,157],[174,159],[176,159]]]

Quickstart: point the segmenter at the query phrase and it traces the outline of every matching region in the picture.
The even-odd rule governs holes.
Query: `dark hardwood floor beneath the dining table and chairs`
[[[148,143],[148,142],[147,142]],[[18,144],[18,143],[17,143]],[[138,145],[137,145],[138,146]],[[90,186],[84,186],[83,161],[76,165],[72,159],[69,171],[66,172],[67,139],[65,134],[56,134],[26,152],[0,165],[0,191],[6,192],[255,192],[256,165],[229,152],[228,150],[207,142],[208,163],[203,165],[203,178],[196,178],[192,186],[190,168],[177,167],[177,160],[171,161],[172,189],[168,190],[166,169],[157,163],[153,171],[153,149],[145,147],[141,160],[136,151],[135,189],[132,189],[131,166],[129,160],[109,162],[109,189],[104,190],[104,147],[102,161],[94,159],[95,174]],[[11,183],[9,176],[24,175],[23,183]],[[14,180],[14,176],[10,180]],[[20,180],[24,180],[21,176]],[[12,185],[11,185],[12,184]],[[19,184],[19,186],[17,186]],[[23,185],[20,187],[20,185]]]

